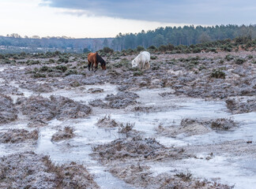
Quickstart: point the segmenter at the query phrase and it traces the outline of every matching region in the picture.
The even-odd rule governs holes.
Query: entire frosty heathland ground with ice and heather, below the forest
[[[254,188],[256,52],[135,56],[0,60],[0,188]]]

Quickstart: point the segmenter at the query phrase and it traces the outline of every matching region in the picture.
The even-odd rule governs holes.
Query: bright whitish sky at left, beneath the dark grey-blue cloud
[[[40,6],[39,6],[40,5]],[[183,26],[145,20],[129,20],[117,17],[94,16],[91,9],[61,8],[50,6],[42,0],[1,0],[0,35],[18,33],[21,36],[40,35],[70,36],[75,38],[115,37],[115,35],[158,27]],[[12,11],[9,11],[9,10]],[[89,15],[89,17],[85,16]],[[101,14],[100,14],[101,15]]]

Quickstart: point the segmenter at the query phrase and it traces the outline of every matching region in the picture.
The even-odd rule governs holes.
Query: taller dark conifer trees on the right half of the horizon
[[[174,46],[190,46],[198,43],[209,43],[216,40],[235,39],[236,37],[256,37],[256,25],[216,25],[202,27],[190,25],[184,27],[165,27],[139,33],[127,33],[116,35],[111,43],[114,50],[135,49],[137,46],[148,48],[159,47],[171,43]]]

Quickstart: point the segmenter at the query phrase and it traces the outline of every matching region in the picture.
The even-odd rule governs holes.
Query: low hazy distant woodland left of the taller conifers
[[[47,52],[60,50],[62,52],[78,52],[82,53],[84,50],[100,50],[104,46],[111,44],[112,38],[97,38],[97,39],[71,39],[63,37],[43,37],[38,35],[24,38],[18,34],[9,34],[7,36],[0,36],[0,52],[8,49],[18,50],[20,48],[24,52]],[[16,47],[16,48],[13,48]],[[19,51],[21,51],[19,50]]]

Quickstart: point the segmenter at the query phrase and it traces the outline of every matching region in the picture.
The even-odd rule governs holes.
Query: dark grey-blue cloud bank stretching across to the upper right
[[[44,5],[133,20],[190,24],[254,24],[254,0],[43,0]],[[84,12],[83,12],[84,11]]]

